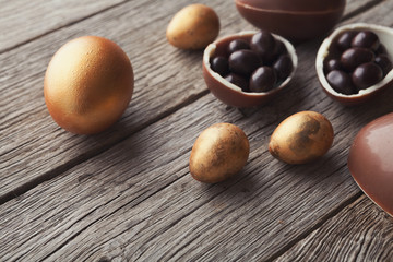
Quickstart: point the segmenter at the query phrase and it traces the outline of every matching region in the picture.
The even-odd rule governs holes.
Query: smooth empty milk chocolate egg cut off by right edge
[[[393,216],[393,114],[380,117],[356,135],[348,168],[360,189]]]

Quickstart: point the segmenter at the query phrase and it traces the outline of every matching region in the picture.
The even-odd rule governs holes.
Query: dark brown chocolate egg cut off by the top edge
[[[340,21],[345,0],[235,0],[254,26],[302,41],[326,34]]]

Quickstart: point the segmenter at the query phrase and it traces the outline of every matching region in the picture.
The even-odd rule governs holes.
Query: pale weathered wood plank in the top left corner
[[[0,53],[123,2],[0,1]]]

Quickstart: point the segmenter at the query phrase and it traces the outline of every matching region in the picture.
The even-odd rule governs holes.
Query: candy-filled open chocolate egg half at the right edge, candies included
[[[357,32],[368,32],[368,33],[372,32],[373,35],[377,35],[380,41],[379,49],[381,50],[377,49],[377,51],[374,51],[374,55],[371,55],[371,57],[369,58],[366,58],[367,55],[362,51],[356,52],[355,56],[346,57],[347,51],[350,51],[350,49],[353,48],[349,48],[346,51],[344,51],[344,49],[348,48],[349,45],[348,43],[353,41],[353,39],[350,38],[354,38]],[[335,28],[332,32],[332,34],[322,41],[315,58],[317,75],[323,91],[333,99],[344,105],[353,106],[353,105],[359,105],[366,103],[370,98],[383,94],[383,92],[393,87],[393,66],[392,66],[393,45],[390,45],[392,39],[393,39],[393,28],[389,26],[368,24],[368,23],[354,23],[354,24],[346,24]],[[355,49],[357,48],[358,47],[356,47]],[[343,51],[346,55],[342,53]],[[381,58],[381,56],[383,56],[384,58]],[[336,59],[338,59],[340,66],[330,64],[331,63],[330,60],[334,60],[335,57]],[[344,60],[348,60],[348,61],[344,61],[343,63],[342,60],[343,58]],[[358,64],[358,62],[355,61],[358,59],[360,59],[359,62],[360,64]],[[349,68],[352,68],[352,66],[354,64],[355,64],[354,66],[354,70],[355,70],[358,68],[358,66],[368,62],[370,59],[372,59],[373,62],[381,68],[383,75],[382,80],[381,80],[381,72],[379,70],[365,71],[361,70],[364,66],[357,70],[355,75],[354,72],[350,72],[352,73],[350,79],[355,80],[355,82],[346,81],[346,80],[340,81],[341,82],[340,86],[337,86],[336,81],[332,81],[332,75],[329,74],[329,72],[331,71],[333,72],[334,70],[345,71],[347,70],[345,68],[347,68],[348,66]],[[340,76],[340,75],[335,74],[335,76]]]

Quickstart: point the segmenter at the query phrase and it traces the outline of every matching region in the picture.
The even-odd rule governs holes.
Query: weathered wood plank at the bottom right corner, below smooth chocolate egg
[[[393,218],[365,195],[276,261],[393,261]]]

